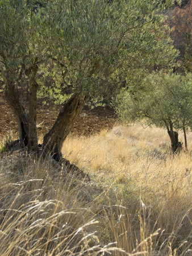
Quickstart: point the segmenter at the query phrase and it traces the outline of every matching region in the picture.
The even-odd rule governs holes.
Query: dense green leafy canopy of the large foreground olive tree
[[[5,81],[18,80],[35,63],[39,84],[47,72],[57,79],[59,73],[62,86],[101,96],[118,86],[119,77],[137,68],[165,67],[175,57],[154,1],[27,2],[1,1]]]

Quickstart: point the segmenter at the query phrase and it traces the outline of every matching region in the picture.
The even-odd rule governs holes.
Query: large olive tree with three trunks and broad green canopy
[[[36,96],[47,75],[57,88],[61,81],[59,87],[72,92],[43,139],[43,150],[60,160],[62,143],[87,98],[116,94],[138,70],[172,66],[177,52],[157,15],[164,6],[158,2],[0,1],[0,72],[21,145],[39,150]],[[17,93],[20,77],[30,85],[29,112]]]

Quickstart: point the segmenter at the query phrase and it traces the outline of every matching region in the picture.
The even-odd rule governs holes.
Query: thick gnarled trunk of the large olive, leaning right
[[[86,96],[73,94],[64,104],[51,130],[44,136],[43,150],[50,152],[57,161],[62,159],[62,144],[69,134],[73,123],[84,108],[86,100]]]

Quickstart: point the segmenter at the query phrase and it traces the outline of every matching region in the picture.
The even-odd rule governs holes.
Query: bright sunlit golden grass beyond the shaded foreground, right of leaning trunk
[[[164,189],[174,179],[189,185],[192,133],[188,134],[188,152],[171,155],[169,137],[159,128],[114,127],[92,137],[68,137],[63,146],[67,159],[92,176],[110,179],[110,183],[134,183],[139,187]],[[169,186],[170,189],[170,186]],[[183,196],[183,191],[180,192]]]

